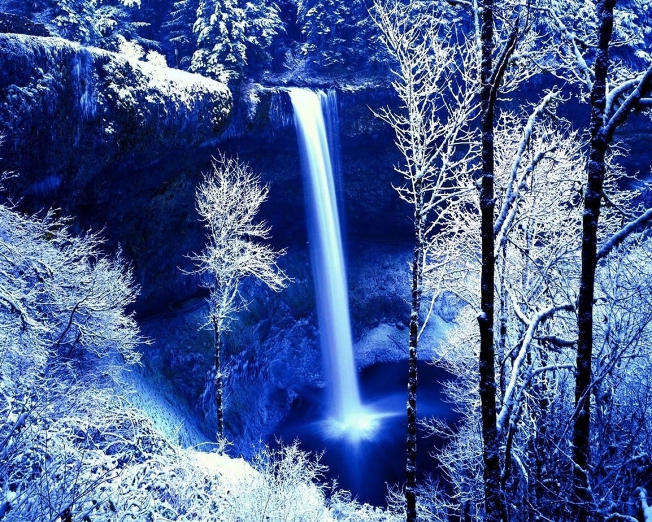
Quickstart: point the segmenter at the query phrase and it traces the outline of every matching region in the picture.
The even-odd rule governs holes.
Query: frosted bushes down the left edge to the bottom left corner
[[[0,204],[3,515],[72,519],[125,459],[112,387],[145,340],[126,311],[137,292],[130,268],[101,244],[71,234],[53,211]]]

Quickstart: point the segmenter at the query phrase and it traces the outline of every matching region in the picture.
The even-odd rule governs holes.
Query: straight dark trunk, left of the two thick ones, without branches
[[[496,375],[494,367],[494,107],[495,80],[492,67],[494,52],[494,0],[482,8],[481,131],[482,185],[480,189],[482,274],[480,327],[480,400],[482,415],[482,460],[484,461],[485,520],[505,521],[500,492],[500,463],[496,427]],[[507,521],[505,521],[507,522]]]

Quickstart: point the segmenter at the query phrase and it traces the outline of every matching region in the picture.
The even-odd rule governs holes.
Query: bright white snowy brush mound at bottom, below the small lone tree
[[[168,448],[125,468],[113,487],[113,516],[202,522],[393,522],[394,515],[320,485],[325,468],[299,443],[269,448],[253,465],[218,452]],[[97,510],[98,513],[101,510]],[[111,514],[93,521],[111,520]]]

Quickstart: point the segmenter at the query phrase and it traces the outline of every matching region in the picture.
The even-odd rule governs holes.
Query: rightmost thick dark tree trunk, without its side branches
[[[572,432],[573,499],[572,515],[589,520],[591,500],[587,472],[590,463],[591,357],[593,352],[593,295],[597,266],[597,230],[604,183],[604,157],[608,137],[604,129],[606,78],[609,67],[609,42],[614,27],[615,0],[598,5],[599,43],[595,56],[595,79],[591,89],[591,150],[587,168],[582,218],[582,275],[578,295],[577,370],[575,374],[575,417]]]

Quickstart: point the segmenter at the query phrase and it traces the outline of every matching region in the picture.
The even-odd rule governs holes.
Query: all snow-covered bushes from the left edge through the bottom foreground
[[[0,204],[0,519],[373,522],[295,442],[249,465],[181,448],[125,399],[136,288],[96,234]]]

